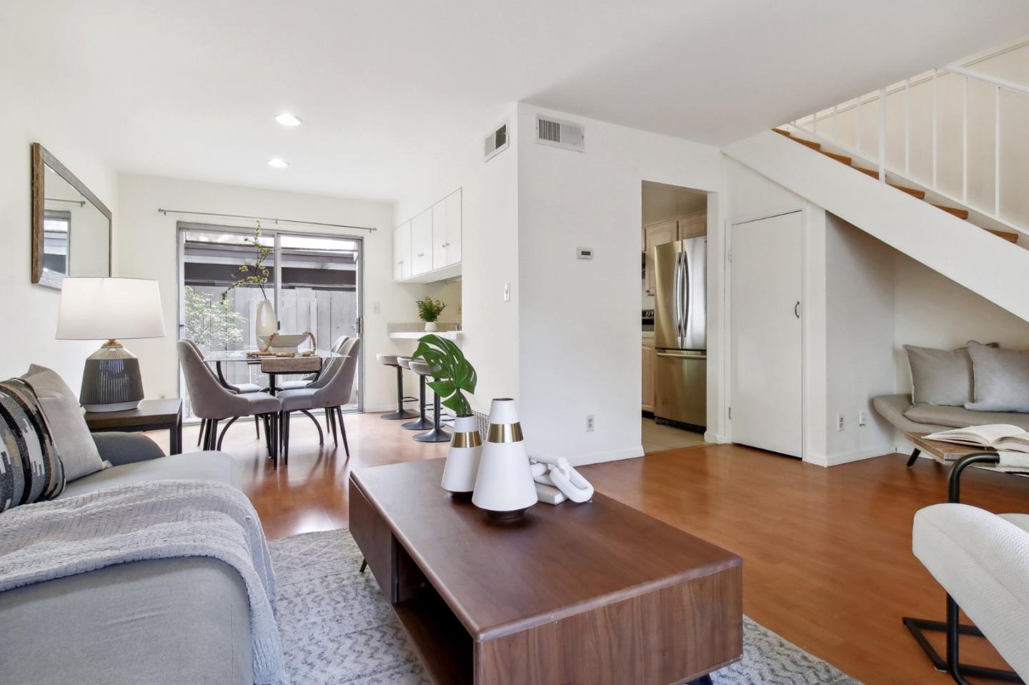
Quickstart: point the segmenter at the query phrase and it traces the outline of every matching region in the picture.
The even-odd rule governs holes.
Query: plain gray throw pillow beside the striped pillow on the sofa
[[[33,364],[22,380],[32,386],[43,407],[54,445],[64,464],[65,479],[81,478],[110,466],[100,458],[78,398],[56,371]]]

